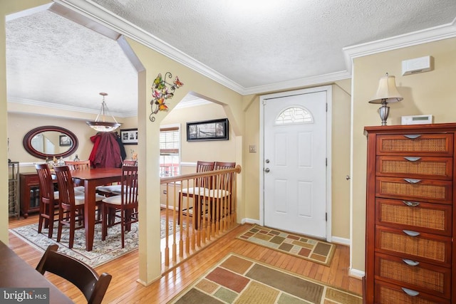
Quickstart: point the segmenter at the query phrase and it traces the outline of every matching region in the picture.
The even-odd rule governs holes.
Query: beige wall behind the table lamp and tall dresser
[[[366,212],[366,137],[363,127],[380,125],[376,110],[368,103],[385,73],[395,75],[404,100],[390,104],[388,125],[400,125],[403,115],[434,115],[434,122],[456,120],[456,38],[378,53],[353,62],[353,229],[352,266],[364,270]],[[434,69],[401,75],[401,62],[432,56]]]

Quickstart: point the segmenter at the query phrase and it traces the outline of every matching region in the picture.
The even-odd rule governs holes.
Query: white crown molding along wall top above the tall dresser
[[[442,26],[425,28],[421,31],[405,33],[403,35],[380,39],[368,43],[361,43],[355,46],[347,46],[346,48],[342,48],[342,51],[347,70],[351,73],[354,58],[386,51],[393,51],[398,48],[407,48],[408,46],[418,46],[418,44],[454,37],[456,37],[456,19],[454,19],[452,23],[443,24]]]

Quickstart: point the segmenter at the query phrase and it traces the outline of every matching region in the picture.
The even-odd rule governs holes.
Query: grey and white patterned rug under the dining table
[[[165,224],[166,220],[161,219],[160,233],[162,239],[165,237]],[[179,229],[180,227],[177,226],[176,230],[179,231]],[[101,241],[101,224],[96,224],[92,251],[86,251],[86,235],[84,229],[76,230],[73,248],[71,249],[68,248],[69,229],[65,226],[63,226],[62,238],[59,243],[56,241],[56,226],[54,227],[52,239],[48,239],[48,229],[43,229],[41,230],[41,234],[38,234],[38,224],[22,226],[10,229],[9,231],[41,251],[45,251],[49,245],[57,244],[58,251],[61,251],[68,256],[73,256],[73,258],[77,258],[93,268],[108,263],[109,261],[138,248],[138,223],[132,224],[131,230],[125,233],[125,248],[122,248],[121,244],[120,225],[109,227],[108,236],[106,236],[105,241]],[[172,234],[171,221],[168,225],[168,231],[169,234]]]

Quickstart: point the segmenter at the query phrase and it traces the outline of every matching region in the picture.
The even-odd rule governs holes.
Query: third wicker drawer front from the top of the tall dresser
[[[452,204],[451,181],[377,177],[375,192],[375,196],[391,199],[410,199]]]

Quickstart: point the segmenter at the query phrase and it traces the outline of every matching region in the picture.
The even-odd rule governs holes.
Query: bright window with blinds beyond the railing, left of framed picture
[[[160,128],[160,177],[180,174],[180,127]]]

